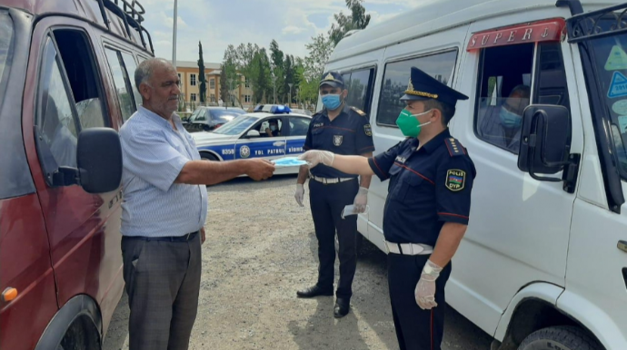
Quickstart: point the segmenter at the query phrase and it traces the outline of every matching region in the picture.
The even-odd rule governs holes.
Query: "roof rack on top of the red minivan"
[[[96,0],[100,7],[100,13],[103,15],[104,24],[106,28],[111,31],[111,24],[109,24],[106,10],[113,12],[124,21],[124,29],[128,37],[132,37],[131,28],[139,33],[139,37],[142,40],[144,49],[148,50],[144,40],[144,33],[148,37],[148,44],[150,44],[150,51],[154,53],[153,39],[150,33],[144,28],[142,23],[144,22],[145,9],[144,5],[141,5],[137,0]],[[129,3],[130,1],[130,3]],[[122,3],[122,5],[120,5]]]

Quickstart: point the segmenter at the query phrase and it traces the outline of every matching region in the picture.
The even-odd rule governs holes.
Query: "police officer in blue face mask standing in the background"
[[[361,110],[346,104],[348,91],[342,75],[336,72],[323,74],[319,85],[324,108],[312,117],[304,150],[323,150],[345,155],[372,157],[373,133],[368,117]],[[363,158],[363,157],[362,157]],[[366,158],[363,158],[365,160]],[[339,241],[340,281],[335,293],[333,316],[348,314],[353,296],[353,277],[357,267],[355,243],[357,216],[341,218],[347,205],[363,212],[367,204],[368,188],[372,174],[358,181],[356,175],[347,174],[321,165],[312,169],[302,166],[294,195],[303,207],[304,181],[309,177],[309,199],[318,238],[318,281],[314,287],[299,290],[298,297],[333,296],[333,265],[335,262],[335,232]]]

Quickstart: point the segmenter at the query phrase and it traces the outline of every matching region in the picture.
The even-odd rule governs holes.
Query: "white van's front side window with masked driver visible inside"
[[[532,73],[534,57],[536,67]],[[483,49],[480,72],[475,133],[503,150],[518,154],[523,112],[528,105],[555,104],[570,110],[559,43]]]

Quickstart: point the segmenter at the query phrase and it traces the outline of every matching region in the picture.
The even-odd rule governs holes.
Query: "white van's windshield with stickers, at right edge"
[[[620,14],[619,14],[620,15]],[[616,18],[610,15],[597,25],[610,31]],[[616,34],[590,42],[604,103],[612,119],[612,141],[620,162],[622,178],[627,178],[627,34]]]

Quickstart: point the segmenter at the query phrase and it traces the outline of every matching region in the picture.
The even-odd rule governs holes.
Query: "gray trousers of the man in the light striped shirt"
[[[122,238],[129,350],[187,350],[198,308],[200,234],[188,241]]]

